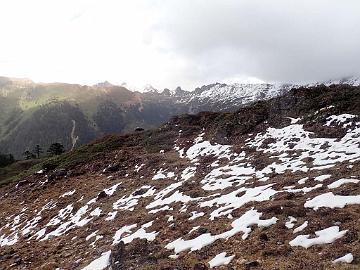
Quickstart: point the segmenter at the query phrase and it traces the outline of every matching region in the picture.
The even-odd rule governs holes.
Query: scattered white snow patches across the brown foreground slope
[[[350,125],[349,123],[354,118],[355,116],[352,115],[330,116],[327,118],[325,124],[327,126],[342,125],[344,128],[348,128],[348,133],[341,139],[317,138],[311,132],[306,131],[303,125],[298,124],[300,119],[290,119],[291,124],[287,127],[279,129],[268,128],[265,132],[258,133],[255,137],[249,138],[246,143],[246,147],[254,147],[257,152],[270,158],[268,165],[258,170],[255,169],[256,166],[254,166],[251,154],[245,152],[247,151],[246,149],[235,153],[230,145],[220,145],[205,140],[205,133],[203,132],[194,139],[192,145],[188,148],[175,146],[175,150],[178,151],[180,157],[189,159],[186,168],[179,167],[182,168],[180,170],[177,167],[173,171],[169,171],[169,169],[165,169],[165,166],[162,166],[163,168],[158,167],[152,171],[155,175],[153,177],[150,176],[149,180],[159,181],[150,181],[151,185],[141,183],[139,184],[139,186],[142,185],[141,187],[130,190],[128,193],[125,193],[127,195],[117,195],[124,191],[123,188],[119,189],[119,186],[122,185],[121,182],[103,189],[108,196],[113,197],[111,203],[112,210],[114,211],[101,207],[104,210],[107,209],[105,212],[107,215],[101,215],[101,208],[94,206],[95,202],[97,202],[97,197],[94,197],[82,206],[80,205],[82,199],[78,200],[79,208],[75,208],[75,203],[63,204],[61,199],[74,195],[76,189],[73,189],[60,195],[58,197],[59,202],[49,201],[41,209],[36,209],[35,216],[31,218],[28,217],[27,213],[25,214],[27,211],[25,207],[22,212],[13,215],[11,220],[7,221],[7,224],[0,228],[0,246],[17,243],[21,235],[32,234],[30,239],[45,241],[61,236],[77,227],[91,224],[93,220],[104,218],[104,220],[110,222],[117,215],[123,214],[123,211],[134,211],[135,208],[141,207],[142,205],[139,205],[139,202],[142,202],[142,199],[146,199],[146,204],[143,206],[149,215],[167,211],[164,216],[167,217],[167,222],[171,223],[170,226],[178,222],[177,216],[174,217],[176,214],[174,211],[189,214],[188,217],[190,217],[187,220],[190,221],[191,226],[189,230],[186,230],[189,232],[184,232],[183,236],[190,235],[198,230],[201,227],[198,222],[203,220],[216,222],[223,219],[222,217],[232,218],[234,210],[248,203],[253,203],[256,207],[256,203],[271,201],[278,194],[297,193],[295,194],[296,196],[301,196],[308,193],[307,196],[310,199],[307,199],[304,203],[304,207],[308,211],[318,210],[321,207],[343,208],[349,204],[360,204],[360,195],[343,196],[326,192],[328,191],[326,185],[328,189],[336,189],[345,184],[358,184],[360,182],[358,179],[348,176],[349,178],[341,178],[328,184],[329,179],[334,176],[329,174],[329,171],[324,171],[326,174],[322,174],[321,171],[322,169],[332,168],[339,162],[351,163],[360,160],[360,124]],[[264,146],[265,140],[271,143]],[[206,156],[216,160],[214,162],[211,161],[212,163],[211,165],[208,164],[206,173],[201,174],[201,171],[198,171],[200,168],[198,162],[201,157]],[[312,158],[312,162],[304,161],[308,158]],[[185,162],[185,160],[182,161]],[[136,174],[142,173],[144,168],[145,164],[136,165]],[[133,167],[131,170],[133,170]],[[288,186],[278,187],[277,183],[272,180],[272,175],[283,174],[285,172],[299,172],[301,176],[296,178],[299,180],[288,183]],[[317,176],[314,177],[314,175]],[[181,189],[184,184],[191,184],[198,180],[195,176],[201,177],[199,179],[199,188],[204,194],[209,195],[195,197],[195,195],[191,194],[190,196]],[[145,178],[141,179],[146,180]],[[162,185],[162,182],[168,182],[161,181],[162,179],[171,180],[171,183]],[[325,193],[319,194],[319,192],[324,192],[323,190],[326,190]],[[78,195],[78,192],[75,195]],[[316,193],[316,195],[312,196],[312,192]],[[59,207],[60,209],[45,225],[39,226],[42,220],[41,214],[55,208],[58,203],[62,208]],[[196,211],[194,211],[196,206],[198,208],[195,208]],[[188,211],[188,207],[191,210]],[[178,237],[175,240],[168,239],[165,248],[173,250],[175,255],[177,255],[184,251],[200,250],[219,239],[228,239],[238,233],[242,234],[242,239],[246,239],[254,225],[268,227],[274,225],[278,220],[277,217],[260,219],[261,216],[262,213],[254,210],[254,208],[247,209],[242,216],[232,220],[231,229],[227,231],[219,234],[203,233],[188,240],[184,240],[185,237]],[[151,231],[150,227],[153,225],[153,222],[156,223],[157,220],[154,219],[154,221],[143,225],[130,224],[121,227],[115,232],[112,244],[115,245],[120,241],[130,243],[136,238],[147,239],[149,241],[154,240],[161,231]],[[288,229],[293,229],[296,222],[297,218],[288,216],[285,226]],[[293,233],[301,232],[308,226],[308,223],[308,221],[304,221],[300,226],[297,225]],[[195,224],[198,226],[193,226]],[[335,223],[335,225],[338,224]],[[49,232],[49,227],[54,229]],[[7,234],[3,233],[5,229],[10,232]],[[90,232],[91,230],[89,230]],[[333,226],[316,231],[315,237],[311,235],[298,235],[289,244],[291,246],[308,248],[312,245],[332,243],[336,239],[343,237],[346,232],[347,230],[340,231],[338,226]],[[93,247],[95,242],[103,237],[97,235],[97,233],[98,230],[93,231],[86,237],[86,241],[95,239],[91,244]],[[350,255],[352,256],[352,254],[349,254],[333,262],[347,262],[350,260]],[[84,269],[103,269],[107,267],[109,255],[109,252],[104,253]],[[233,258],[234,256],[226,257],[226,252],[222,252],[211,259],[209,264],[211,267],[226,265]]]

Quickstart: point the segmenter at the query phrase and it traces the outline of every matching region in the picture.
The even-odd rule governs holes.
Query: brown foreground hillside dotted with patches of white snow
[[[108,136],[0,188],[3,269],[359,269],[360,87]]]

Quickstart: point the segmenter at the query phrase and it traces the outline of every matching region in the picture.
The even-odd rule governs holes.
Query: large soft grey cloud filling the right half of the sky
[[[153,35],[199,82],[321,81],[360,73],[360,1],[157,1]]]

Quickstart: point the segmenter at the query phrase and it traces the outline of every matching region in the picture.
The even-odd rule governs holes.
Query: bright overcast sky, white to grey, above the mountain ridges
[[[191,90],[358,74],[359,0],[0,0],[0,76]]]

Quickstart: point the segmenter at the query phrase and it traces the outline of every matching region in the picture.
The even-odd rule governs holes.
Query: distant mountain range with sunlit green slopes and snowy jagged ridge
[[[333,83],[360,85],[360,78],[324,84]],[[180,87],[159,91],[148,85],[142,92],[126,87],[109,82],[83,86],[0,77],[0,152],[21,158],[36,144],[47,149],[53,142],[69,150],[106,134],[157,127],[174,115],[233,111],[300,85],[215,83],[193,91]]]

